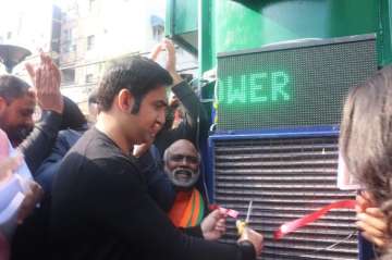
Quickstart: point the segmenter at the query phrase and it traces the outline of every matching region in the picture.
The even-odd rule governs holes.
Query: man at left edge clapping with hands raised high
[[[0,127],[5,131],[12,146],[23,154],[28,166],[27,185],[39,200],[32,203],[32,212],[20,221],[12,240],[13,260],[36,256],[39,259],[46,251],[45,236],[49,206],[46,194],[36,183],[37,169],[49,156],[58,132],[64,127],[75,127],[84,117],[75,116],[75,107],[71,100],[61,96],[60,72],[52,60],[40,53],[40,63],[26,64],[33,87],[13,75],[0,76]],[[33,113],[36,103],[41,109],[41,117],[35,124]],[[28,175],[28,176],[27,176]],[[40,207],[35,207],[36,205]]]

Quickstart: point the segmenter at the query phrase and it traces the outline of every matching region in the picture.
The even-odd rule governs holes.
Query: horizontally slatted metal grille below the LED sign
[[[332,210],[319,221],[273,239],[283,223],[355,194],[336,188],[338,137],[213,140],[213,197],[245,219],[252,199],[250,227],[265,235],[261,259],[358,258],[355,212]],[[228,219],[225,242],[237,238]]]

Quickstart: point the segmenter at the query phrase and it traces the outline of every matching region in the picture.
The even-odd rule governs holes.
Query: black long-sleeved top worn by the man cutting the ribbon
[[[57,260],[255,259],[249,244],[207,242],[175,228],[137,162],[96,128],[70,150],[54,179],[50,240]]]

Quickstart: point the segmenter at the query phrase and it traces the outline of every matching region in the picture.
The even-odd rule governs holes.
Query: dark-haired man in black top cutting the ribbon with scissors
[[[220,236],[218,210],[196,227],[177,230],[148,194],[131,151],[151,143],[164,123],[166,86],[172,77],[177,83],[170,74],[144,58],[105,74],[97,124],[68,152],[54,179],[53,259],[248,260],[260,255],[262,236],[250,228],[236,245],[203,239]]]

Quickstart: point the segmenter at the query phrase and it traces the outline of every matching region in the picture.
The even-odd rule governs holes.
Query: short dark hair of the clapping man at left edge
[[[26,82],[16,76],[0,76],[0,97],[9,103],[26,95],[29,88],[30,86]]]

